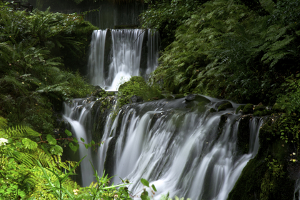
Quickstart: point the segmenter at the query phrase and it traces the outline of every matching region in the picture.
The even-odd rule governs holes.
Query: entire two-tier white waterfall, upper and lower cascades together
[[[158,40],[157,33],[150,30],[94,31],[89,57],[91,83],[116,90],[121,77],[149,74],[157,66]],[[102,103],[107,98],[74,99],[65,104],[64,118],[76,137],[86,142],[91,138],[104,141],[96,154],[80,146],[81,158],[88,154],[81,163],[83,186],[92,181],[90,159],[99,174],[105,170],[114,176],[115,184],[119,178],[129,179],[133,194],[141,191],[140,179],[144,178],[156,186],[157,199],[168,192],[199,200],[226,199],[259,149],[262,120],[235,114],[239,105],[232,102],[232,109],[210,112],[222,101],[200,95],[194,100],[161,99],[126,105],[112,120],[109,108],[104,109]],[[246,130],[241,130],[245,121]],[[244,135],[243,141],[248,142],[243,147]]]

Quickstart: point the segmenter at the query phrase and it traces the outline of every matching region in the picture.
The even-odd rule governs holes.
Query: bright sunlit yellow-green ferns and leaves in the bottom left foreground
[[[5,124],[6,120],[0,119]],[[66,131],[66,135],[71,133]],[[96,182],[88,187],[76,184],[69,176],[82,159],[78,163],[61,161],[62,148],[56,139],[48,135],[45,148],[40,136],[28,126],[1,126],[0,199],[131,199],[126,188],[129,181],[111,186],[110,178],[105,173],[99,177],[95,170]]]

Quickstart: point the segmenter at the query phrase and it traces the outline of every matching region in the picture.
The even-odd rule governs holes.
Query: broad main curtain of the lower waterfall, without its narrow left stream
[[[106,127],[111,131],[121,126],[114,153],[109,152],[114,155],[115,184],[119,177],[129,179],[133,183],[129,189],[136,194],[144,178],[156,186],[158,199],[168,191],[171,196],[191,199],[227,198],[258,151],[262,121],[250,121],[249,153],[241,155],[236,149],[239,115],[227,114],[220,131],[221,116],[228,111],[199,113],[185,105],[184,99],[161,100],[120,111],[124,113],[121,124]],[[113,136],[116,133],[105,134],[102,140],[110,141]],[[101,154],[106,150],[99,149]]]

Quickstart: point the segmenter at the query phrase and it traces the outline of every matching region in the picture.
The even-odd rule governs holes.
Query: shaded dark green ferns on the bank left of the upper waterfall
[[[0,3],[0,116],[53,134],[62,101],[91,94],[81,77],[91,32],[76,14],[13,11]],[[76,64],[76,65],[75,65]]]

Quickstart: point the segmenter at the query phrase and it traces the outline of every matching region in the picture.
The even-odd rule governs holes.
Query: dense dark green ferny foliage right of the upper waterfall
[[[187,8],[189,15],[179,20],[176,14],[168,15],[168,21],[177,23],[175,40],[164,49],[154,71],[166,91],[266,104],[291,91],[285,92],[288,84],[283,83],[289,83],[292,74],[298,80],[299,1],[261,1],[264,11],[243,2],[206,1],[192,9],[186,6],[190,1],[176,4],[174,11]],[[142,15],[144,26],[173,31],[163,25],[164,17],[157,17],[174,1],[165,4],[153,3]]]

